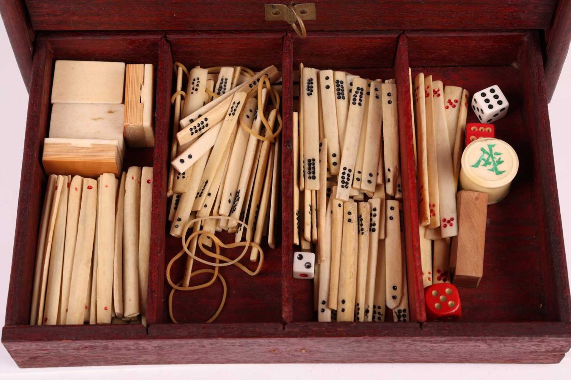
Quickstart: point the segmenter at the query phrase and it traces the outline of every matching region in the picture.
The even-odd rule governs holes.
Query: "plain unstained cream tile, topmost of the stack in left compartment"
[[[123,103],[125,64],[57,60],[51,103]]]

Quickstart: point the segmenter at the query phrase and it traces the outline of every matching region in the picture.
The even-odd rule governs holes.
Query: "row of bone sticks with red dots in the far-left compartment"
[[[139,260],[140,250],[142,254],[139,256],[143,260],[135,269],[148,272],[151,197],[150,192],[143,191],[144,204],[139,203],[135,188],[141,184],[136,169],[140,171],[140,168],[130,169],[131,185],[128,185],[126,173],[120,181],[112,173],[103,173],[98,180],[80,176],[72,179],[69,175],[50,176],[46,200],[51,199],[51,202],[45,204],[46,216],[43,219],[46,222],[42,220],[40,228],[40,236],[43,234],[45,241],[39,239],[43,245],[43,256],[37,260],[41,277],[37,280],[34,324],[111,324],[113,318],[139,321],[136,315],[125,318],[123,305],[123,298],[126,298],[127,313],[133,314],[128,305],[133,299],[132,293],[142,293],[138,289],[140,281],[133,279],[128,270],[132,268],[132,253]],[[143,173],[144,183],[151,188],[152,168],[143,168]],[[124,204],[129,205],[126,211]],[[138,216],[133,221],[133,213],[138,215],[139,207],[141,225]],[[126,221],[124,212],[128,216]],[[142,232],[140,238],[139,227],[147,231]],[[123,245],[123,231],[128,235],[126,245]],[[139,241],[147,242],[146,246],[132,245],[130,236],[134,231]],[[123,278],[127,282],[124,283]],[[144,306],[141,308],[144,310]]]

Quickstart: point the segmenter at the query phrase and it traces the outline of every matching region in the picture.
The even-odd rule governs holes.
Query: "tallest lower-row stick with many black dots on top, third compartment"
[[[379,255],[379,229],[381,215],[381,200],[369,199],[371,211],[369,211],[369,258],[367,262],[367,285],[365,289],[364,318],[371,322],[373,297],[375,296],[375,280],[377,275],[377,258]],[[384,215],[383,215],[384,216]]]

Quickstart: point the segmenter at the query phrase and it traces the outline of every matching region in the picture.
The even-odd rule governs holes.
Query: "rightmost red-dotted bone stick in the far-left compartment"
[[[151,252],[152,167],[141,171],[139,222],[139,308],[147,314],[148,258]],[[99,314],[98,314],[99,317]]]

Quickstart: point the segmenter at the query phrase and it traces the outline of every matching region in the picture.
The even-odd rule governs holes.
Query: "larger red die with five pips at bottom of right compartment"
[[[447,282],[434,284],[424,289],[424,302],[429,321],[459,320],[462,316],[458,289]]]

